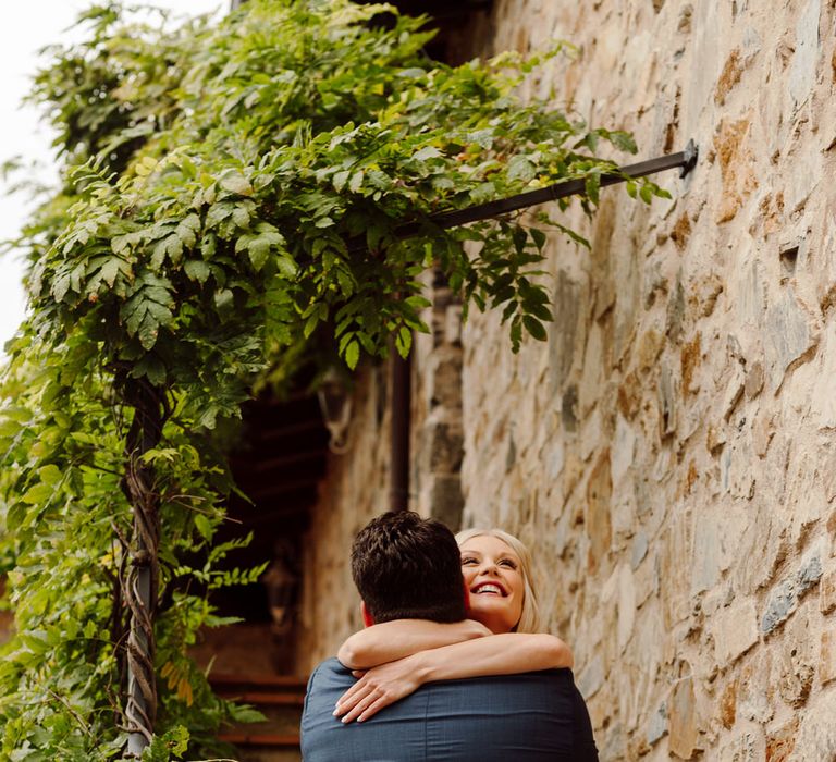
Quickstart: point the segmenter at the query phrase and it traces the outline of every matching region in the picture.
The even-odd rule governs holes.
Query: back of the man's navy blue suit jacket
[[[317,667],[302,721],[305,762],[591,762],[589,715],[569,669],[432,683],[366,723],[332,715],[354,684],[335,659]]]

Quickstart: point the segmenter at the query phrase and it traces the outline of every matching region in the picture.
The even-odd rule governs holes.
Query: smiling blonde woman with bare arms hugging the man
[[[359,679],[336,703],[344,723],[368,720],[425,683],[571,667],[566,643],[537,631],[526,546],[501,529],[469,529],[456,541],[470,619],[397,619],[348,638],[337,657]]]

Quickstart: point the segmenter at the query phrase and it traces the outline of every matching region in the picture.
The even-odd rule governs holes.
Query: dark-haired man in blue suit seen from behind
[[[411,512],[372,519],[355,539],[352,575],[364,619],[465,619],[452,532]],[[430,683],[365,723],[333,716],[355,678],[336,659],[310,676],[305,762],[591,762],[589,715],[569,669]]]

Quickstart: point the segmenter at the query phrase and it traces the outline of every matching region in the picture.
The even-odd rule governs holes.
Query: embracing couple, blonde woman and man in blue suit
[[[352,575],[366,629],[310,676],[305,762],[598,760],[519,540],[388,513],[357,534]]]

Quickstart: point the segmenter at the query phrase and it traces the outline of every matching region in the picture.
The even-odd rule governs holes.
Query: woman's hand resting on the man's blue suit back
[[[407,656],[366,672],[353,672],[359,679],[340,697],[334,716],[342,716],[344,723],[353,720],[361,723],[415,692],[423,684],[423,673],[417,666],[416,659]]]

